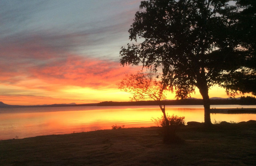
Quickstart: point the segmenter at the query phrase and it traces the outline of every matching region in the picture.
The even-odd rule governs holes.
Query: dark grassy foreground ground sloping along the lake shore
[[[182,127],[182,144],[161,129],[125,128],[1,140],[0,165],[255,165],[256,123]]]

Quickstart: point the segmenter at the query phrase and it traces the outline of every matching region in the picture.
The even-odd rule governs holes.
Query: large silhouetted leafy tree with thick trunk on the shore
[[[177,99],[187,98],[197,87],[203,97],[205,124],[211,124],[208,89],[223,85],[220,78],[239,71],[246,59],[243,42],[234,36],[239,20],[223,12],[229,8],[227,2],[142,1],[129,29],[131,41],[139,42],[120,51],[122,65],[142,64],[153,71],[162,67],[162,81],[172,91],[175,88]]]

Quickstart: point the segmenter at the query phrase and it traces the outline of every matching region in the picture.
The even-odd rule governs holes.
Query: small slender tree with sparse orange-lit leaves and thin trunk
[[[153,99],[156,101],[163,112],[165,124],[168,126],[169,121],[165,114],[165,105],[162,100],[166,98],[164,95],[164,86],[161,82],[153,77],[153,73],[125,74],[124,79],[118,85],[118,88],[124,92],[132,94],[131,101],[141,101],[145,99]]]

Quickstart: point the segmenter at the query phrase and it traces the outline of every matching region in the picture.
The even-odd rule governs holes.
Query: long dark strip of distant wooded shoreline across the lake
[[[254,97],[239,97],[239,98],[210,98],[211,105],[256,105],[256,98]],[[164,105],[203,105],[203,99],[188,98],[181,100],[164,100]],[[7,107],[74,107],[74,106],[143,106],[143,105],[158,105],[156,101],[137,101],[137,102],[113,102],[105,101],[100,103],[90,104],[44,104],[44,105],[9,105],[0,102],[0,108]]]

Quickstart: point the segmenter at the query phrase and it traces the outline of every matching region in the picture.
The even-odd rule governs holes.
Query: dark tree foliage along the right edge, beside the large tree
[[[232,33],[241,45],[237,51],[244,58],[239,59],[236,70],[223,72],[220,84],[233,96],[237,91],[256,95],[256,1],[236,0],[236,5],[223,9],[221,14],[235,20]]]

